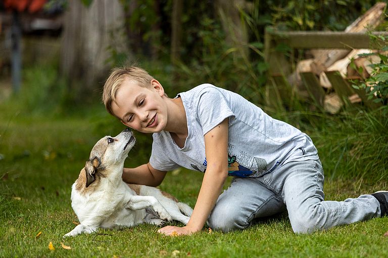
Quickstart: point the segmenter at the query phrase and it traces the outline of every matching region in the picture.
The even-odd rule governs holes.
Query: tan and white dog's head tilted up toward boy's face
[[[134,144],[135,138],[129,128],[116,137],[106,136],[100,139],[94,145],[85,164],[86,187],[94,182],[96,175],[107,176],[106,171],[121,173],[122,168],[116,168],[123,166]]]

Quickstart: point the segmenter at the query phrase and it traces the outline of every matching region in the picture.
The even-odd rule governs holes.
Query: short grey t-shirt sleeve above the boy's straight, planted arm
[[[227,96],[214,87],[206,87],[200,92],[197,114],[203,135],[207,134],[225,118],[234,116],[227,101]]]

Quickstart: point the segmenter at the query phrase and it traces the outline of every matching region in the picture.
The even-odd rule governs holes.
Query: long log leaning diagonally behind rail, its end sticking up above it
[[[382,17],[384,14],[386,4],[377,3],[370,8],[363,16],[359,17],[351,25],[349,25],[345,32],[366,32],[367,29],[373,30],[383,21]],[[349,50],[342,49],[331,49],[324,50],[315,56],[315,61],[311,64],[313,71],[317,75],[320,75],[324,68],[331,66],[336,60],[344,58],[349,53]]]

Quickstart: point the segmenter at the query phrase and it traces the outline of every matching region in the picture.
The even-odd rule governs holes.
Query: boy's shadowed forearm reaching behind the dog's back
[[[153,168],[150,163],[147,163],[135,168],[124,168],[122,177],[126,183],[158,186],[163,181],[166,173]]]

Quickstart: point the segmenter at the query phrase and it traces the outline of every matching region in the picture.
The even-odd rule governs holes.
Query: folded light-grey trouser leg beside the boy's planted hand
[[[255,218],[266,217],[285,210],[283,200],[255,178],[235,178],[219,196],[209,216],[214,230],[229,232],[245,229]]]

